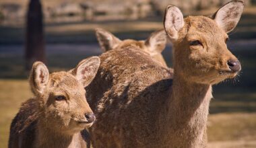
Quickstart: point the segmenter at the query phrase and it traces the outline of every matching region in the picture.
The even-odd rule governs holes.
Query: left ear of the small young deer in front
[[[30,71],[30,87],[34,94],[42,94],[48,81],[49,81],[49,70],[42,62],[35,62]]]

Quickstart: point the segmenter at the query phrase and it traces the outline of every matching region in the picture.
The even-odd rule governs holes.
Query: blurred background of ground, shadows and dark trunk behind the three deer
[[[94,28],[144,40],[162,29],[167,5],[184,15],[210,15],[229,0],[0,0],[0,147],[20,104],[32,97],[28,71],[43,61],[51,72],[101,54]],[[242,73],[214,86],[207,123],[209,147],[256,147],[256,1],[230,33],[228,47]],[[171,43],[162,52],[172,67]]]

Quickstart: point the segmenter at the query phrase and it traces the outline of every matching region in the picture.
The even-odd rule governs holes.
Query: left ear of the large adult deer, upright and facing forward
[[[183,14],[178,7],[168,5],[164,14],[164,29],[171,40],[179,38],[178,32],[184,26]]]

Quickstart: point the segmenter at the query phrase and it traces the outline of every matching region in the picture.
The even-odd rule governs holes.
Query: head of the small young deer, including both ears
[[[50,128],[73,134],[92,126],[95,116],[86,101],[84,87],[94,79],[99,65],[100,59],[91,57],[69,72],[49,74],[43,63],[34,63],[30,86],[40,102],[40,113]]]

